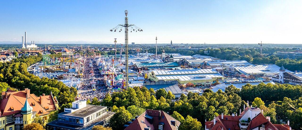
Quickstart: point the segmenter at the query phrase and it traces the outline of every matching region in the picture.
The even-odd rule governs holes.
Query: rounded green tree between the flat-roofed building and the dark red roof
[[[131,113],[122,106],[115,111],[115,114],[110,119],[109,125],[113,130],[120,130],[128,121],[131,120],[131,117]]]

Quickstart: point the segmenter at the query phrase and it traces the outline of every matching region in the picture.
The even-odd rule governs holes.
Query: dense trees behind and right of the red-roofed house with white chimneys
[[[252,105],[264,110],[264,115],[270,116],[271,122],[275,124],[290,120],[293,129],[302,128],[301,85],[246,84],[241,90],[235,86],[229,86],[225,93],[237,93],[243,100],[254,101]]]

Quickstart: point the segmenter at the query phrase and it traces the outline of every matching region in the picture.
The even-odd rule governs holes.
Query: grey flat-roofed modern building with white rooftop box
[[[115,112],[107,106],[86,105],[85,100],[72,102],[72,108],[65,108],[58,119],[46,124],[47,130],[91,130],[94,125],[106,126]]]

